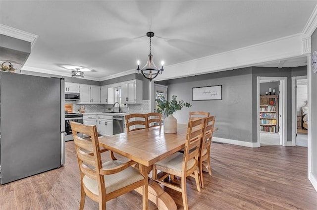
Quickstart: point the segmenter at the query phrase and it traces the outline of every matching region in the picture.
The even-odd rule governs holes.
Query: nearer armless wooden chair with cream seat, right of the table
[[[176,152],[173,155],[153,165],[152,179],[160,184],[182,193],[184,210],[188,210],[186,178],[192,176],[196,180],[197,190],[200,192],[198,172],[199,151],[205,130],[205,118],[189,120],[185,140],[184,154]],[[165,174],[158,178],[158,170]],[[181,178],[181,187],[164,181],[169,175]]]

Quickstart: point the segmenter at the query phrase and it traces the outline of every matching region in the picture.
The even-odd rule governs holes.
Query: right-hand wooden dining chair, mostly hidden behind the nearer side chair
[[[204,188],[203,167],[206,167],[208,169],[209,175],[211,176],[210,147],[215,119],[216,116],[210,116],[206,118],[205,134],[203,136],[202,144],[200,147],[199,175],[202,188]]]

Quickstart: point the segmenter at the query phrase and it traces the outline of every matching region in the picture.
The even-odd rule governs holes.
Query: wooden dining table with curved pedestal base
[[[177,124],[177,133],[173,134],[164,133],[164,126],[157,126],[100,137],[99,145],[139,163],[148,175],[153,164],[185,147],[186,132],[187,124]],[[136,191],[142,194],[142,188]],[[174,200],[152,179],[148,184],[148,197],[159,210],[177,210]]]

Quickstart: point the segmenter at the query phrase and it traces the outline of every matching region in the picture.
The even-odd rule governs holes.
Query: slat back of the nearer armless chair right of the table
[[[195,158],[196,163],[200,155],[200,146],[205,131],[205,118],[189,120],[183,157],[182,171],[187,170],[187,162]],[[197,166],[197,165],[196,165]]]

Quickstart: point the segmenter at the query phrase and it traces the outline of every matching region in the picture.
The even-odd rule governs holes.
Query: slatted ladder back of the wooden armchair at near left
[[[99,169],[102,168],[102,161],[96,125],[89,126],[70,122],[70,126],[74,137],[81,178],[83,179],[84,175],[87,175],[91,179],[96,180],[99,186],[104,186],[105,188],[105,185],[101,184],[104,182],[104,175],[99,174]],[[81,138],[78,136],[78,133],[85,134],[88,137],[85,139]],[[94,168],[96,169],[94,170]]]

